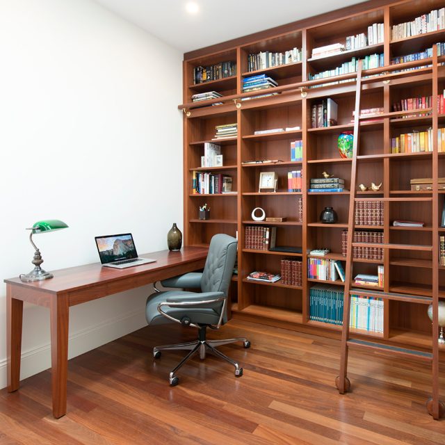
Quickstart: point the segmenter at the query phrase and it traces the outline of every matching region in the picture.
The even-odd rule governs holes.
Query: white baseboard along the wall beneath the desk
[[[70,334],[68,359],[98,348],[147,325],[145,307],[109,318],[97,325]],[[51,367],[51,343],[22,352],[20,380]],[[6,387],[6,359],[0,360],[0,389]]]

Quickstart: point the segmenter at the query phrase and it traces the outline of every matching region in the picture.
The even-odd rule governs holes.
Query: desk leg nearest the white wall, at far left
[[[6,285],[6,367],[8,369],[8,391],[19,389],[20,359],[22,357],[23,301],[13,298],[10,284]]]

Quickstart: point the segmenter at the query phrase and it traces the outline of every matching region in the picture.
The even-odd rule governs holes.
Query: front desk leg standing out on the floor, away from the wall
[[[53,415],[56,419],[67,412],[69,297],[58,295],[51,300],[51,372]]]

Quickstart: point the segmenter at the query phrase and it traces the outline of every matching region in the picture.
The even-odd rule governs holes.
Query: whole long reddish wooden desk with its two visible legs
[[[55,270],[54,278],[41,282],[24,283],[19,278],[4,280],[8,331],[8,391],[19,389],[24,301],[49,307],[53,414],[58,419],[65,415],[67,410],[70,306],[203,268],[207,251],[207,248],[193,247],[183,248],[181,252],[162,250],[141,255],[156,259],[156,263],[127,269],[107,268],[95,263]]]

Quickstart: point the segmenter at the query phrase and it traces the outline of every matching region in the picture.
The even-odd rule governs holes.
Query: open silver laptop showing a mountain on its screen
[[[95,236],[102,266],[124,269],[154,263],[156,259],[138,258],[131,234]]]

